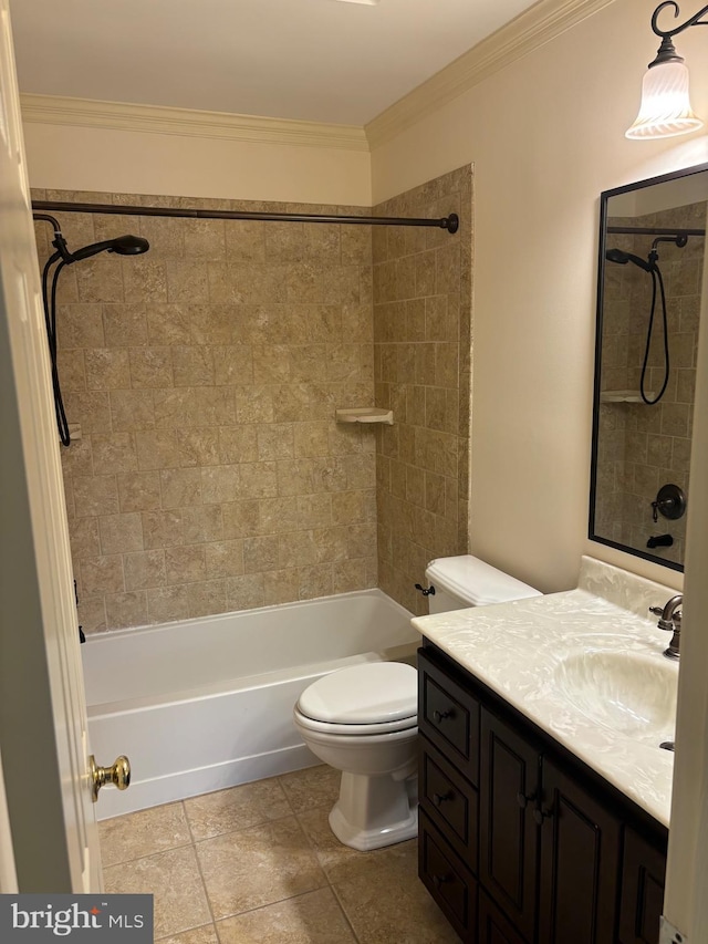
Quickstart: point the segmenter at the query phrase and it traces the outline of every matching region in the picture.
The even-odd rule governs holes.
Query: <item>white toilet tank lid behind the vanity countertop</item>
[[[428,583],[447,590],[470,606],[508,603],[541,593],[471,554],[431,560],[425,572]]]

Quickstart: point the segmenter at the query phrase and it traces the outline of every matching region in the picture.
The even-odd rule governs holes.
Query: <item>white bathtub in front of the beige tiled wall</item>
[[[132,767],[98,818],[319,764],[292,724],[301,692],[347,665],[413,661],[418,641],[381,590],[88,636],[91,749]]]

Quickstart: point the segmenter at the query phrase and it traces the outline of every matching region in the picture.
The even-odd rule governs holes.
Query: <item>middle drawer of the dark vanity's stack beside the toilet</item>
[[[477,790],[420,737],[418,799],[462,862],[477,872]]]

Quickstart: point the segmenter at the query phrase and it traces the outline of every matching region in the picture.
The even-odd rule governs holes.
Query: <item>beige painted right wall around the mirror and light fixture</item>
[[[544,591],[581,553],[680,575],[586,539],[598,195],[708,159],[708,138],[628,142],[657,40],[615,2],[372,154],[374,201],[472,163],[471,550]],[[708,116],[701,30],[680,38]]]

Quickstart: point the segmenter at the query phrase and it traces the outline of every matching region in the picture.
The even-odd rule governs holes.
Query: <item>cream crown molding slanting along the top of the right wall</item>
[[[540,0],[373,118],[365,126],[369,147],[385,144],[489,75],[613,2]]]

